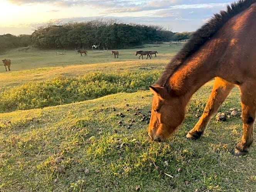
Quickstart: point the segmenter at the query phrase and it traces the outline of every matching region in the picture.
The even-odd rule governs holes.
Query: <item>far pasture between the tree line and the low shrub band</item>
[[[66,51],[64,56],[56,56],[55,50],[30,49],[27,52],[12,49],[0,55],[0,58],[9,58],[12,61],[10,72],[0,67],[0,93],[20,86],[28,81],[53,79],[56,76],[77,77],[91,72],[122,72],[123,70],[140,71],[143,69],[161,68],[170,58],[181,49],[182,44],[164,46],[150,46],[141,49],[157,50],[157,58],[138,59],[135,51],[138,49],[119,50],[120,57],[115,59],[111,51],[89,51],[88,57],[81,57],[75,51]],[[61,50],[59,50],[61,51]],[[64,50],[63,50],[64,51]]]

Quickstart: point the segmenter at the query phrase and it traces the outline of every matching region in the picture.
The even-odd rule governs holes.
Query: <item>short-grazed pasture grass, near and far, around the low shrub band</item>
[[[95,72],[140,75],[162,71],[167,57],[180,45],[158,48],[159,58],[151,61],[129,59],[130,53],[135,57],[134,49],[123,50],[123,60],[109,57],[109,61],[104,61],[105,53],[92,59],[94,53],[90,52],[83,57],[88,62],[81,64],[78,61],[82,58],[72,51],[66,62],[58,58],[67,58],[68,54],[54,56],[54,51],[17,52],[12,59],[17,61],[13,63],[15,71],[0,73],[0,94],[56,76],[70,79]],[[52,57],[57,58],[51,62]],[[18,62],[25,59],[27,65]],[[230,153],[241,137],[240,114],[225,122],[213,118],[199,140],[185,139],[198,120],[195,115],[202,113],[211,88],[209,82],[194,94],[182,125],[172,138],[161,143],[149,139],[148,120],[141,121],[142,115],[149,118],[150,91],[0,113],[0,191],[256,191],[255,144],[245,157]],[[241,109],[237,88],[219,111],[229,108]],[[125,117],[121,118],[120,112]]]

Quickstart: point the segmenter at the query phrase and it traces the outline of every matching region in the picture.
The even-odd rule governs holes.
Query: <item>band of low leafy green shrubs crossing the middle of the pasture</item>
[[[0,94],[0,113],[34,109],[95,99],[120,92],[147,90],[161,71],[103,73],[84,77],[56,77],[47,81],[25,83]]]

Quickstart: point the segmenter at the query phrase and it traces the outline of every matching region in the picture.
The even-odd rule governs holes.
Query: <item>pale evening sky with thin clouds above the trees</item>
[[[195,31],[234,0],[0,0],[0,35],[31,34],[48,23],[115,19]]]

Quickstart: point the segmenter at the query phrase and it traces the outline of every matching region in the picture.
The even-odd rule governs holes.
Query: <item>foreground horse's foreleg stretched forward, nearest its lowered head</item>
[[[217,112],[219,106],[226,99],[232,88],[234,88],[234,84],[231,84],[219,77],[215,78],[212,93],[204,108],[204,112],[194,128],[187,133],[186,137],[188,139],[195,140],[199,138],[202,133],[204,133],[204,130],[211,120],[212,115]]]

